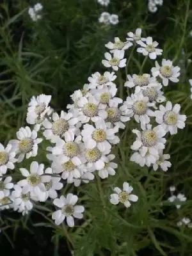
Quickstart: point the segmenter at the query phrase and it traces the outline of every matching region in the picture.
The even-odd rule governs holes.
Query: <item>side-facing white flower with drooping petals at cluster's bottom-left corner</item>
[[[23,215],[28,211],[31,211],[33,208],[31,193],[23,193],[23,189],[18,184],[15,184],[13,188],[14,190],[12,191],[12,196],[10,197],[12,200],[13,210],[22,212]]]

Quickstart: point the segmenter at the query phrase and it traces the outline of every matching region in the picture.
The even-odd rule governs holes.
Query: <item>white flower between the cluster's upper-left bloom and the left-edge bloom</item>
[[[18,163],[22,162],[24,156],[26,158],[33,157],[37,155],[38,143],[42,142],[43,139],[36,138],[37,133],[35,130],[26,126],[21,127],[18,132],[16,132],[18,140],[10,140],[12,145],[12,150],[18,155]]]

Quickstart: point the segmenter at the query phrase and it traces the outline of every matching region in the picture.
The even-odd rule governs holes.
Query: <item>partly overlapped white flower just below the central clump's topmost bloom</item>
[[[109,101],[111,100],[114,102],[114,104],[116,103],[116,106],[118,106],[118,104],[123,102],[122,99],[118,97],[114,97],[116,95],[116,92],[117,92],[117,88],[115,84],[111,86],[104,86],[100,90],[98,89],[92,90],[92,93],[95,96],[95,99],[99,100],[100,102],[99,108],[101,109],[106,109],[106,107],[109,105]]]

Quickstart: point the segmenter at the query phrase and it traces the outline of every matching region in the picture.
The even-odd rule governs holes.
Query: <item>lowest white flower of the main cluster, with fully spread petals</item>
[[[68,227],[74,227],[74,218],[82,219],[84,212],[84,207],[82,205],[75,205],[77,203],[78,197],[69,193],[67,198],[65,196],[60,196],[53,201],[53,204],[60,208],[60,210],[52,213],[52,220],[56,225],[60,225],[65,217],[67,219]]]

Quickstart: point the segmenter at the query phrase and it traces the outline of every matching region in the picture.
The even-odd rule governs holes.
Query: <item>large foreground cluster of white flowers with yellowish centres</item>
[[[113,147],[120,142],[120,134],[131,119],[138,125],[138,129],[132,130],[136,140],[131,146],[134,150],[131,161],[140,166],[152,166],[154,170],[159,166],[163,171],[168,170],[171,163],[167,161],[170,155],[163,154],[164,136],[184,128],[186,116],[180,115],[179,104],[172,106],[168,101],[163,106],[159,103],[166,100],[161,91],[163,86],[177,83],[179,67],[173,67],[170,60],[163,60],[161,66],[156,62],[151,74],[141,74],[141,70],[140,74],[128,74],[123,85],[132,92],[127,99],[120,99],[115,72],[129,65],[125,54],[133,45],[139,46],[137,52],[146,56],[145,60],[147,56],[154,60],[163,51],[156,48],[158,43],[151,37],[141,37],[141,29],[136,29],[135,33],[127,33],[125,42],[116,37],[114,42],[106,44],[109,52],[104,54],[106,60],[102,60],[102,64],[111,70],[88,77],[88,84],[70,96],[72,104],[67,105],[67,112],[56,113],[49,106],[51,95],[31,98],[26,121],[34,125],[33,128],[21,127],[17,140],[9,141],[6,147],[0,144],[1,209],[12,208],[28,214],[36,202],[51,198],[58,207],[52,213],[56,225],[66,217],[68,226],[73,227],[74,218],[83,218],[84,207],[76,205],[76,195],[64,196],[61,189],[66,183],[76,187],[81,182],[88,183],[95,175],[100,179],[115,175],[117,164],[113,162]],[[51,167],[45,168],[44,164],[32,161],[29,170],[20,168],[22,178],[17,184],[12,183],[12,177],[4,179],[8,169],[15,168],[14,163],[38,154],[38,145],[43,140],[40,137],[49,144],[47,159]],[[114,189],[111,204],[120,202],[129,207],[129,201],[138,200],[138,196],[131,194],[133,188],[127,182],[123,188],[123,191]]]

